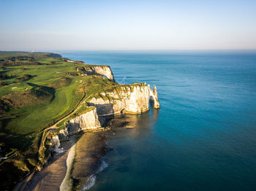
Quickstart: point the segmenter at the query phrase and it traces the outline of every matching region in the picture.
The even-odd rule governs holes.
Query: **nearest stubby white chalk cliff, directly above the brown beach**
[[[68,134],[72,135],[81,130],[100,128],[100,123],[95,107],[90,107],[88,111],[78,117],[69,120],[67,123]]]

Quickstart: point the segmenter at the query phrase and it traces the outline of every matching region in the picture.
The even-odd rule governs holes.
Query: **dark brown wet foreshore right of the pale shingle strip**
[[[72,170],[67,177],[73,190],[82,190],[89,177],[97,173],[101,165],[100,159],[108,152],[105,148],[105,131],[89,131],[72,139],[76,139],[75,155],[73,160],[69,161]]]

